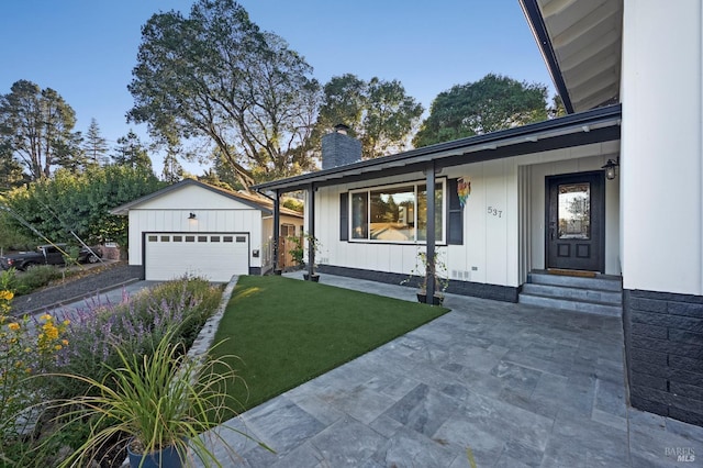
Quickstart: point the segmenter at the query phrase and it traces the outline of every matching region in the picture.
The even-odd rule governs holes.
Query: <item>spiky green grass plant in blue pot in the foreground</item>
[[[252,439],[220,424],[231,403],[225,383],[236,379],[232,367],[222,358],[188,356],[181,344],[172,343],[175,335],[167,332],[145,356],[116,346],[120,364],[108,369],[103,381],[58,375],[90,386],[86,395],[52,404],[64,410],[64,424],[90,425],[89,437],[60,467],[91,466],[98,454],[116,444],[126,444],[132,468],[179,468],[193,456],[204,466],[222,467],[203,433],[220,426]],[[221,432],[210,431],[208,437],[236,455]]]

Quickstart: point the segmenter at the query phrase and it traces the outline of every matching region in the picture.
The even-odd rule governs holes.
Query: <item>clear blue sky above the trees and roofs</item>
[[[4,0],[0,93],[26,79],[55,89],[94,118],[111,145],[133,127],[126,89],[141,26],[159,11],[186,14],[193,0]],[[429,109],[437,93],[489,73],[554,87],[517,0],[242,0],[263,30],[283,37],[325,83],[352,73],[398,79]],[[155,160],[155,168],[160,161]],[[200,174],[196,167],[189,170]]]

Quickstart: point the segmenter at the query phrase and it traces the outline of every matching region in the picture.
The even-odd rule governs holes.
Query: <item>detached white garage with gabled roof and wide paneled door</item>
[[[271,200],[186,179],[112,210],[129,216],[130,265],[147,280],[197,275],[228,281],[272,268]],[[302,215],[281,209],[291,235]]]

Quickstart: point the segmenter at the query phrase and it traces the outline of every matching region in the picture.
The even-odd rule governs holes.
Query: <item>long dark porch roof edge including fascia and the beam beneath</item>
[[[427,168],[429,163],[434,163],[435,169],[438,169],[590,143],[607,142],[620,138],[621,118],[621,105],[610,105],[302,176],[258,183],[253,189],[261,192],[269,190],[302,190],[312,183],[321,187],[422,171]]]

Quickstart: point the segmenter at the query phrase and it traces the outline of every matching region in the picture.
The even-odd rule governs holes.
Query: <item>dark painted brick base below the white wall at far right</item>
[[[703,297],[623,296],[631,404],[703,425]]]

